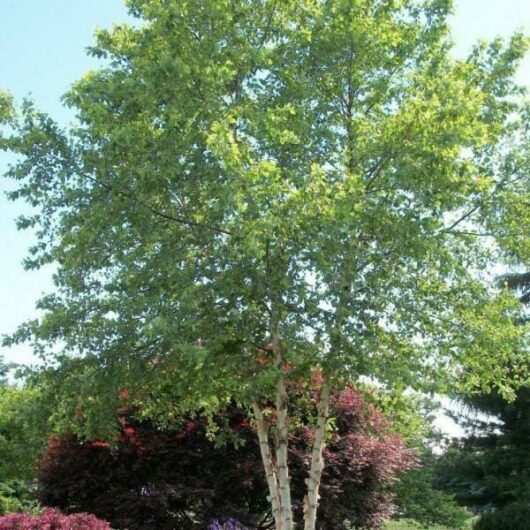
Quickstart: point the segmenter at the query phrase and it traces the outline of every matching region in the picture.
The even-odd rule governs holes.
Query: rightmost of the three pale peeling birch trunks
[[[309,477],[306,479],[307,497],[304,506],[304,530],[315,530],[317,522],[318,500],[320,495],[320,480],[324,469],[323,451],[326,444],[326,427],[329,415],[329,385],[324,382],[320,391],[317,407],[317,425],[311,452],[311,467]]]

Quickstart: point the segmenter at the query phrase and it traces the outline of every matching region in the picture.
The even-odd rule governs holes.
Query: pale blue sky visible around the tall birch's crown
[[[85,54],[97,27],[127,19],[122,0],[0,0],[0,87],[20,99],[28,94],[55,119],[71,119],[60,96],[96,63]],[[530,0],[456,0],[452,18],[456,53],[463,55],[478,39],[530,33]],[[530,86],[530,61],[519,80]],[[8,163],[0,156],[0,173]],[[26,272],[21,266],[31,234],[17,232],[14,219],[24,212],[3,191],[12,184],[0,180],[0,334],[35,318],[35,301],[51,289],[51,270]],[[31,359],[29,347],[0,349],[16,362]]]

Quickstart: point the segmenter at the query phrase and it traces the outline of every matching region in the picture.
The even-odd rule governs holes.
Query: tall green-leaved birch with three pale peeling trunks
[[[510,391],[525,329],[488,288],[503,256],[483,237],[514,246],[528,199],[526,40],[453,59],[449,0],[128,5],[141,24],[100,31],[104,66],[65,96],[76,125],[25,103],[2,140],[12,198],[38,208],[19,220],[37,233],[26,265],[57,264],[11,341],[61,345],[56,416],[89,436],[120,388],[159,420],[251,407],[278,530],[294,524],[287,382],[320,374],[314,530],[343,380]]]

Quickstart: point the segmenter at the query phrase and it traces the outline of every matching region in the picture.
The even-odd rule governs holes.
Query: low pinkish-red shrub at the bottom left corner
[[[0,517],[0,530],[110,530],[110,525],[87,513],[63,515],[46,510],[41,515],[4,515]]]

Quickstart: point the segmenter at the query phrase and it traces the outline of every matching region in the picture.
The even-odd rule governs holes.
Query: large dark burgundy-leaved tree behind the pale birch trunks
[[[308,404],[305,405],[307,407]],[[359,392],[332,397],[335,428],[326,449],[318,527],[379,528],[393,513],[397,473],[415,464],[413,452]],[[204,419],[160,431],[123,417],[114,448],[99,440],[55,437],[39,466],[43,505],[86,511],[116,529],[204,529],[235,518],[249,528],[274,526],[259,446],[245,411],[231,406],[216,421],[224,438],[208,436]],[[302,511],[310,431],[290,435],[295,511]]]

